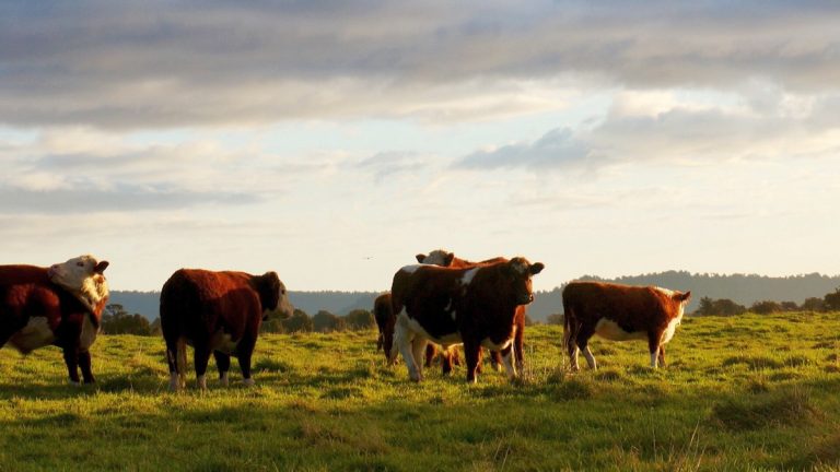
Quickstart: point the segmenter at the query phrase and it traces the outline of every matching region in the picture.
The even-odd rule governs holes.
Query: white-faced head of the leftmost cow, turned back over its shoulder
[[[91,255],[52,264],[47,273],[56,285],[75,296],[94,315],[100,315],[108,300],[108,281],[103,272],[108,261]]]

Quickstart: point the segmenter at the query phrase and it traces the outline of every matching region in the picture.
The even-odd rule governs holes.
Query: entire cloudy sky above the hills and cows
[[[591,3],[1,1],[0,263],[840,273],[840,5]]]

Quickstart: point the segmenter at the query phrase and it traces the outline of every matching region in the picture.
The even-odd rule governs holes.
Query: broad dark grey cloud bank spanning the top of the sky
[[[0,117],[139,129],[336,117],[475,120],[526,88],[836,88],[830,2],[19,2]],[[523,86],[526,84],[528,86]]]

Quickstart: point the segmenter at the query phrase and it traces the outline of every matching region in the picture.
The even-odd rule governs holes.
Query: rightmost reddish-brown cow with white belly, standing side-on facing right
[[[665,366],[665,344],[682,319],[691,292],[654,286],[628,286],[599,282],[570,282],[563,288],[563,343],[573,370],[583,351],[590,368],[596,368],[588,346],[593,334],[612,341],[648,340],[651,367]]]

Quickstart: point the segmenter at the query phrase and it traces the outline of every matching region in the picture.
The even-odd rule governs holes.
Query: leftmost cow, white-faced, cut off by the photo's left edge
[[[94,384],[90,347],[108,302],[107,267],[91,255],[49,268],[0,266],[0,345],[23,354],[56,345],[70,384],[80,385],[80,368],[84,384]]]

